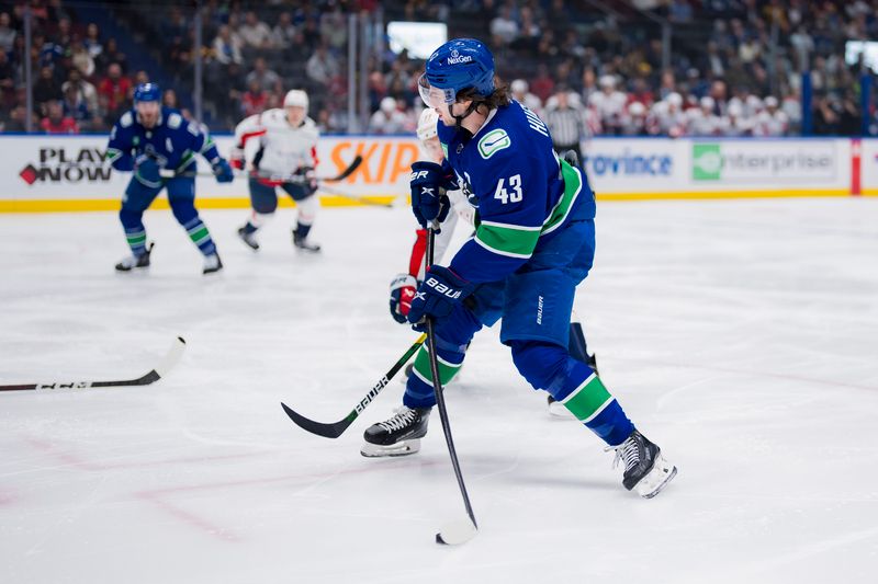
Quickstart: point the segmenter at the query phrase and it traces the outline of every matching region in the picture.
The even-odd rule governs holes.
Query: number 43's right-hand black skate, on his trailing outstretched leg
[[[607,450],[616,450],[614,468],[619,460],[624,462],[622,485],[642,497],[654,497],[677,476],[677,467],[665,460],[662,450],[637,430],[622,444]]]

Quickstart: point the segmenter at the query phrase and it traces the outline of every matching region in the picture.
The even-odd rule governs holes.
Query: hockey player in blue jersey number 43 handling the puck
[[[446,160],[412,165],[415,217],[424,227],[441,221],[449,208],[443,191],[459,185],[469,187],[477,209],[474,237],[448,267],[430,266],[408,312],[418,328],[425,317],[436,321],[440,380],[460,368],[473,334],[502,319],[500,342],[521,376],[616,451],[626,489],[654,496],[676,467],[635,430],[588,365],[567,353],[575,289],[595,252],[595,198],[585,174],[555,156],[536,114],[495,87],[494,58],[482,43],[446,43],[418,84],[440,115]],[[403,408],[367,430],[371,456],[417,451],[404,445],[426,434],[436,396],[429,368],[416,360],[415,370]]]

